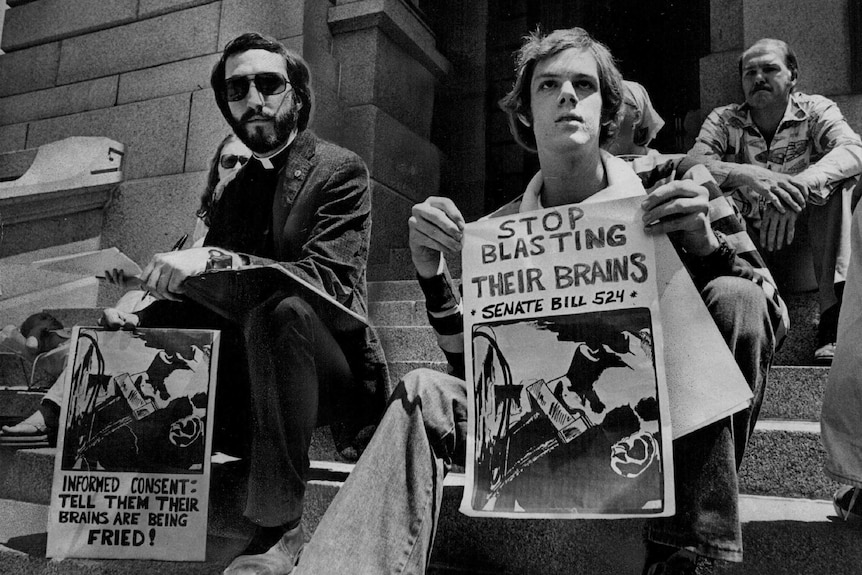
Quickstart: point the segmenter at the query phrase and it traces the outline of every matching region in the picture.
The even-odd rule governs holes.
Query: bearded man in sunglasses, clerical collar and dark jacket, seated
[[[219,109],[254,155],[215,204],[204,247],[156,254],[144,269],[145,287],[161,301],[137,314],[108,309],[103,323],[222,330],[216,447],[248,456],[245,516],[257,526],[225,573],[284,574],[303,544],[318,412],[337,422],[342,454],[358,457],[384,405],[382,349],[370,328],[327,325],[290,285],[261,291],[253,276],[237,274],[237,292],[260,293],[260,301],[226,318],[185,298],[183,282],[208,266],[279,262],[367,316],[371,191],[356,154],[307,129],[310,73],[282,44],[239,36],[225,47],[211,83]]]

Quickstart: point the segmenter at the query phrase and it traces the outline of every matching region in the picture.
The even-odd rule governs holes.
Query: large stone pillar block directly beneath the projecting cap
[[[434,110],[434,76],[377,28],[341,34],[341,98],[348,106],[374,104],[423,137]]]

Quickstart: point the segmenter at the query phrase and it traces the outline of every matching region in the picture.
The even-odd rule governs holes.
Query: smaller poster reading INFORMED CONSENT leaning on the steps
[[[219,332],[76,327],[47,555],[203,561]]]

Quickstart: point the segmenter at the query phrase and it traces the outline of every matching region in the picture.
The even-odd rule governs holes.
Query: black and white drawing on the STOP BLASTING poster
[[[649,309],[473,326],[473,509],[663,508]]]

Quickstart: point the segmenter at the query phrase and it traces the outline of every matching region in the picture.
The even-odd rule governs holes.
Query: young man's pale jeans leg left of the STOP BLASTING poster
[[[443,479],[464,461],[466,432],[464,381],[408,373],[294,573],[425,573]]]

